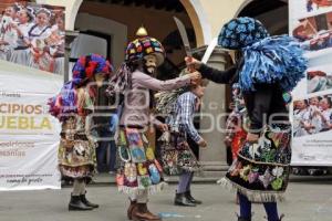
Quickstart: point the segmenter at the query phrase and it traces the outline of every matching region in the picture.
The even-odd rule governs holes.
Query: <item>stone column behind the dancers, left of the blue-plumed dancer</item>
[[[196,49],[194,53],[200,57],[205,51],[206,46],[203,46]],[[218,70],[225,70],[230,61],[229,54],[217,46],[207,64]],[[203,116],[200,118],[201,136],[208,143],[206,149],[200,148],[200,161],[205,165],[205,170],[227,169],[225,134],[220,131],[220,128],[225,128],[227,105],[226,85],[209,82],[203,98]]]

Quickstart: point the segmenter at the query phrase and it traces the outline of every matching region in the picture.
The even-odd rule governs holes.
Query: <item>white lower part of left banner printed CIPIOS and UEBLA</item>
[[[48,98],[63,78],[0,61],[0,190],[60,189],[60,124]]]

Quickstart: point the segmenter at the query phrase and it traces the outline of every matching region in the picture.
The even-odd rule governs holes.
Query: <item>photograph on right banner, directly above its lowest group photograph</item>
[[[307,71],[308,93],[332,90],[332,65],[309,67]]]

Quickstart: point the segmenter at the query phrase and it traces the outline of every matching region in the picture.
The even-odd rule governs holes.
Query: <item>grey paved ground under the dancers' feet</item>
[[[172,204],[175,186],[156,194],[151,209],[168,218],[165,221],[231,221],[236,220],[235,197],[217,185],[195,185],[193,192],[204,204],[178,208]],[[0,221],[125,221],[127,200],[114,186],[94,186],[89,189],[91,201],[101,208],[90,212],[66,210],[70,188],[46,191],[0,192]],[[288,199],[280,204],[286,221],[331,221],[332,179],[293,179]],[[263,221],[262,206],[255,204],[255,221]]]

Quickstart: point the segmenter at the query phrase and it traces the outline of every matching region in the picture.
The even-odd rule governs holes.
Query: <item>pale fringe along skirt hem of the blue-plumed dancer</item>
[[[232,182],[227,177],[219,179],[217,183],[230,191],[240,192],[241,194],[246,196],[251,202],[276,202],[284,200],[284,192],[249,190]]]

